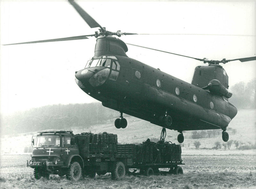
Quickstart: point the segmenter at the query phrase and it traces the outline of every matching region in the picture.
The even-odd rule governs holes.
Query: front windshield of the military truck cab
[[[60,136],[58,135],[41,135],[36,137],[35,148],[38,147],[60,147]]]

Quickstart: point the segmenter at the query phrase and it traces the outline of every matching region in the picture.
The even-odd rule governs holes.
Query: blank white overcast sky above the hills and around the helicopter
[[[214,60],[256,54],[254,1],[76,1],[108,31],[152,34],[122,36],[126,43]],[[67,1],[2,1],[1,44],[93,34]],[[197,35],[198,34],[198,35]],[[212,35],[214,34],[214,35]],[[95,38],[24,45],[1,45],[1,113],[52,104],[96,101],[75,82],[94,55]],[[128,46],[131,58],[191,83],[202,62]],[[256,61],[222,64],[229,85],[255,77]]]

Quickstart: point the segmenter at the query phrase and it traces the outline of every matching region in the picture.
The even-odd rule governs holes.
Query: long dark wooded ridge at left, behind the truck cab
[[[1,131],[3,134],[13,134],[47,129],[66,130],[78,126],[86,128],[119,116],[119,112],[101,103],[47,105],[2,117]]]

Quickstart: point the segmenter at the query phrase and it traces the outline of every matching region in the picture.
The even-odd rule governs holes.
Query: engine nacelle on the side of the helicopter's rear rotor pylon
[[[231,91],[224,87],[217,79],[210,81],[206,87],[203,87],[203,89],[208,89],[211,93],[224,96],[226,98],[232,97]]]

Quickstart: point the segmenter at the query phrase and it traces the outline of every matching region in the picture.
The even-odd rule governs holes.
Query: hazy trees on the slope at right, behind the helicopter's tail
[[[232,86],[231,91],[233,96],[229,102],[239,109],[256,108],[256,78],[248,83],[239,82]]]

